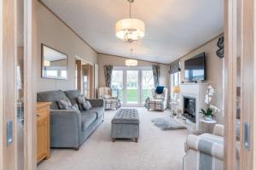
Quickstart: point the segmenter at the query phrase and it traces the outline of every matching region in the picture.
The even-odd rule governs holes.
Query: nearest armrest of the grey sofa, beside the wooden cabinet
[[[81,113],[77,110],[50,110],[51,147],[79,148]]]

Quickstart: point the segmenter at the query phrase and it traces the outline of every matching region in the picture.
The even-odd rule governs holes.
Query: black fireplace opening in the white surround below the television
[[[183,96],[183,116],[189,119],[191,122],[195,122],[196,120],[195,109],[195,98]]]

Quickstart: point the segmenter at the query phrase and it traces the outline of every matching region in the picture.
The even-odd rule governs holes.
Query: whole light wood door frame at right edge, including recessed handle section
[[[256,169],[256,3],[253,0],[224,1],[224,169]],[[241,16],[241,22],[237,16]],[[238,47],[237,27],[241,29]],[[236,57],[241,48],[241,141],[236,160]],[[249,150],[245,148],[244,125],[249,123]]]

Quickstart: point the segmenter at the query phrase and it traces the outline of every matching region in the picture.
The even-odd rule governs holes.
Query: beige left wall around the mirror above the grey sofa
[[[68,55],[67,80],[41,78],[41,43]],[[65,26],[61,20],[58,20],[54,14],[51,14],[47,8],[38,3],[37,90],[74,89],[75,56],[79,56],[90,64],[97,62],[96,52]]]

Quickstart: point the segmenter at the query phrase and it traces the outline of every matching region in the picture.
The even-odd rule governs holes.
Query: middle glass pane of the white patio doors
[[[127,104],[138,104],[139,102],[138,71],[127,71],[125,97],[126,97]]]

